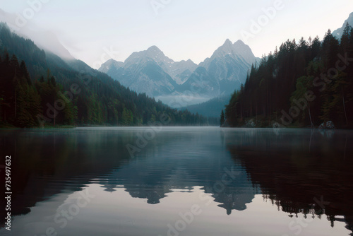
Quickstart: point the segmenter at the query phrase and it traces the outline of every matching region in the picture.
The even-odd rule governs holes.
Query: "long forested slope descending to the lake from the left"
[[[0,23],[1,126],[141,126],[160,119],[165,125],[217,122],[137,94],[82,61],[44,52]]]

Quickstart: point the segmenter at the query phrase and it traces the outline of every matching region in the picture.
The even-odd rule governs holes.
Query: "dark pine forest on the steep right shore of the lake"
[[[229,126],[352,128],[352,27],[347,23],[340,40],[328,30],[323,41],[284,42],[252,66],[225,116]]]

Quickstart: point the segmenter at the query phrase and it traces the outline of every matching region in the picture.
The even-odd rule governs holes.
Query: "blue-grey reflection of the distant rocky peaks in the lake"
[[[193,187],[201,186],[227,210],[227,214],[232,210],[245,210],[246,203],[250,203],[256,194],[246,171],[234,165],[229,154],[220,149],[222,146],[203,146],[206,149],[195,150],[192,157],[180,155],[180,149],[178,152],[177,149],[188,147],[189,143],[196,142],[174,138],[171,142],[165,140],[160,148],[149,148],[149,158],[131,161],[106,175],[104,188],[114,191],[123,185],[132,197],[156,204],[173,189],[192,191]]]

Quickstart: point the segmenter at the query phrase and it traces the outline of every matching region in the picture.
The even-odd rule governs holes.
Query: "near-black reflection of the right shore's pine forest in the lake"
[[[234,160],[282,211],[325,213],[332,225],[344,216],[353,230],[352,133],[253,129],[223,137]]]

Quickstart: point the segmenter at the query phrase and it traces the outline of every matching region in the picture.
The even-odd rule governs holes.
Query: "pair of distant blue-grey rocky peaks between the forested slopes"
[[[156,46],[133,52],[126,61],[110,59],[99,71],[107,73],[122,85],[138,93],[146,93],[170,104],[168,98],[188,97],[174,107],[191,105],[222,94],[233,93],[245,83],[251,65],[256,62],[251,48],[238,40],[219,47],[200,64],[190,59],[174,61]]]

